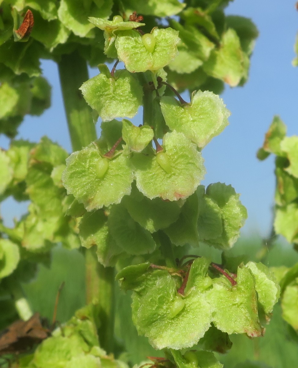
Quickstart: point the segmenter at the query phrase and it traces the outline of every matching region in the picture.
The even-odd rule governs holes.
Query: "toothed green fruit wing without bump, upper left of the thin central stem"
[[[88,105],[95,109],[103,121],[115,117],[134,117],[142,103],[142,87],[125,69],[111,77],[105,65],[101,73],[86,81],[81,91]]]

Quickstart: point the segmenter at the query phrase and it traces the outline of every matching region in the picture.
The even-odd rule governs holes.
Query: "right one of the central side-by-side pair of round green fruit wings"
[[[194,193],[205,174],[202,156],[184,134],[175,131],[164,135],[163,147],[168,159],[166,169],[160,166],[153,153],[133,156],[136,186],[150,199],[160,197],[177,201],[186,198]]]

